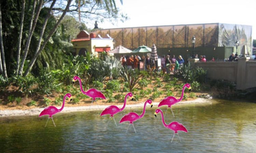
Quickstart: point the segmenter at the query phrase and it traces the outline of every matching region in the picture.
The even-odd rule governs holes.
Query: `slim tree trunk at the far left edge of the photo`
[[[6,65],[5,65],[5,56],[4,56],[4,48],[3,48],[3,33],[2,33],[2,12],[1,12],[1,1],[0,1],[0,48],[1,48],[1,67],[2,74],[5,78],[7,78]]]

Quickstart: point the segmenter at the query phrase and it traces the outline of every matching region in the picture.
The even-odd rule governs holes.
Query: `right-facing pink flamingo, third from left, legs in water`
[[[122,112],[124,109],[125,109],[125,105],[126,105],[126,100],[127,100],[127,97],[130,96],[132,97],[132,93],[129,92],[128,94],[125,95],[125,101],[124,101],[124,106],[122,108],[118,108],[117,106],[115,105],[111,105],[109,107],[106,107],[100,114],[100,116],[103,116],[103,115],[106,115],[106,114],[109,114],[110,115],[110,118],[113,117],[114,121],[115,121],[115,118],[114,118],[114,115],[119,113],[119,112]],[[110,120],[109,118],[109,120]],[[109,124],[109,121],[108,121],[108,124]],[[107,124],[107,125],[108,125]],[[115,121],[115,124],[116,124],[116,121]],[[117,126],[117,124],[116,124]]]

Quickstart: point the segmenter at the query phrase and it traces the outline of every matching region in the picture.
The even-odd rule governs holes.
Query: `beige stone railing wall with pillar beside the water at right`
[[[237,89],[244,90],[256,87],[256,61],[249,57],[240,57],[232,62],[199,62],[199,59],[189,59],[192,66],[208,70],[208,78],[228,80],[237,83]]]

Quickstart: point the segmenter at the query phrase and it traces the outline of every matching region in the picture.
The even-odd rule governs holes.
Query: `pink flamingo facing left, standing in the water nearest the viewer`
[[[180,136],[179,136],[178,131],[183,131],[183,132],[188,133],[188,131],[187,131],[187,129],[185,128],[185,126],[182,125],[182,124],[179,123],[179,122],[176,122],[176,121],[171,122],[169,125],[167,125],[167,124],[165,123],[165,119],[163,118],[163,112],[161,111],[161,109],[156,109],[155,117],[156,117],[156,115],[157,115],[159,112],[161,113],[163,126],[165,126],[165,127],[168,128],[168,129],[171,129],[171,130],[174,132],[174,133],[173,133],[172,140],[173,140],[173,138],[174,138],[175,133],[177,133],[177,135],[178,135],[178,137],[179,137],[179,139],[180,139],[180,142],[181,142],[181,138],[180,138]],[[171,141],[171,143],[172,143],[172,141]]]

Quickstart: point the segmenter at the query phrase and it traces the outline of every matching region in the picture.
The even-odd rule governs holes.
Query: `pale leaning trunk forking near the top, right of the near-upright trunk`
[[[29,50],[29,46],[30,46],[30,41],[31,41],[33,32],[35,30],[35,26],[37,25],[38,16],[39,16],[39,13],[41,11],[42,4],[43,4],[43,0],[40,0],[39,4],[38,4],[37,11],[35,13],[35,18],[34,18],[36,1],[37,0],[34,0],[34,3],[33,3],[33,11],[32,11],[32,16],[31,16],[30,25],[29,25],[29,35],[28,35],[26,47],[25,47],[25,50],[24,50],[24,54],[22,56],[22,62],[21,62],[20,67],[19,67],[19,73],[18,73],[19,75],[22,75],[22,73],[23,73],[23,67],[24,67],[24,63],[25,63],[26,58],[27,58],[27,54],[28,54],[28,50]]]

